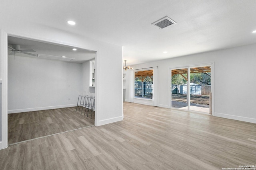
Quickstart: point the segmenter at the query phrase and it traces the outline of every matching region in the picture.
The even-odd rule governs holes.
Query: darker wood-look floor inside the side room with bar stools
[[[8,144],[94,125],[94,112],[90,119],[81,111],[67,107],[8,114]]]

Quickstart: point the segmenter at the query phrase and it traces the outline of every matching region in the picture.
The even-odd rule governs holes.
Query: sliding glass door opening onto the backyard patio
[[[171,108],[211,113],[210,65],[170,68],[170,77]]]

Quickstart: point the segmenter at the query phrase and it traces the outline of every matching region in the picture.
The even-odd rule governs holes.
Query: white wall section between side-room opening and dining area
[[[115,45],[113,44],[113,48]],[[109,53],[108,47],[103,47],[97,52],[97,56],[102,56],[102,53]],[[119,56],[119,58],[117,58]],[[111,51],[108,57],[96,57],[96,76],[95,90],[96,105],[100,105],[98,111],[100,125],[120,121],[123,119],[123,68],[122,68],[122,48]],[[99,64],[100,63],[100,64]],[[98,101],[97,101],[98,100]],[[111,118],[110,119],[110,115]]]

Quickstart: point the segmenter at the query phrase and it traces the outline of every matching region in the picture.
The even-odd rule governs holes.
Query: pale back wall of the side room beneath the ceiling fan
[[[8,113],[76,106],[82,64],[8,57]]]

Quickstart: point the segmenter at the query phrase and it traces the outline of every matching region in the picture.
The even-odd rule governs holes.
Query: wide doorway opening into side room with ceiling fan
[[[76,106],[89,92],[95,57],[96,51],[8,36],[9,145],[94,125],[95,109]]]

